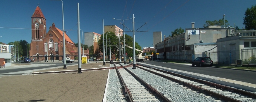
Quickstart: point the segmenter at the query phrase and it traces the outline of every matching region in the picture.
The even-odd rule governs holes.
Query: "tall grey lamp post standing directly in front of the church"
[[[66,47],[65,47],[65,32],[64,32],[64,12],[63,12],[63,1],[62,0],[55,0],[55,1],[61,1],[62,2],[62,28],[63,28],[63,69],[67,69],[66,67]]]

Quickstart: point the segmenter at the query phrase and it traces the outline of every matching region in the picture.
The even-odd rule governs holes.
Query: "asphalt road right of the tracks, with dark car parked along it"
[[[255,79],[256,72],[252,72],[252,71],[240,71],[240,70],[234,70],[234,69],[222,69],[222,68],[199,67],[199,66],[193,67],[192,65],[164,63],[164,62],[155,62],[155,61],[146,61],[142,63],[256,84],[256,79]]]

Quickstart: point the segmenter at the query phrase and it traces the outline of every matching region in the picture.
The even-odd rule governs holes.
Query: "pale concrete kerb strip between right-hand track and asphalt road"
[[[174,73],[181,74],[181,75],[186,75],[186,76],[192,77],[192,78],[210,81],[210,82],[221,84],[224,86],[236,87],[238,89],[256,92],[255,84],[250,84],[250,83],[245,83],[245,82],[235,81],[235,80],[229,80],[229,79],[225,79],[225,78],[213,77],[213,76],[209,76],[209,75],[197,74],[197,73],[192,73],[192,72],[187,72],[187,71],[181,71],[181,70],[177,70],[177,69],[154,66],[154,65],[149,65],[149,64],[145,64],[145,63],[139,63],[139,64],[145,65],[145,66],[151,66],[151,67],[153,66],[154,68],[162,69],[162,70],[169,71],[169,72],[174,72]]]

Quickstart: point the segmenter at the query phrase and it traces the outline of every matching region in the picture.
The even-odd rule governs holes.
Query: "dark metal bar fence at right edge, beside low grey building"
[[[256,64],[256,49],[241,49],[243,64]]]

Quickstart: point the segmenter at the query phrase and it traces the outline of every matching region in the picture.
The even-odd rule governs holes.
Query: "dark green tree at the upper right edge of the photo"
[[[256,5],[252,5],[251,8],[247,8],[245,11],[244,26],[245,29],[255,29],[256,28]]]

